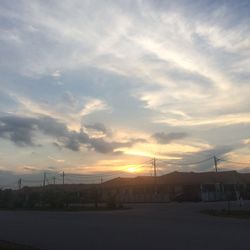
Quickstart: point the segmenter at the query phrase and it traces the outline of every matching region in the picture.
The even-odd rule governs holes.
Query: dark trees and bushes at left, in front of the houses
[[[102,199],[101,191],[91,188],[83,191],[69,191],[54,188],[23,188],[21,190],[0,190],[0,209],[115,209],[122,205],[116,196]]]

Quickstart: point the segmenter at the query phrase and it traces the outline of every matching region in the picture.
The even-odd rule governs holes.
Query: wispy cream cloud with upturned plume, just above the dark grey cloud
[[[77,98],[70,91],[63,92],[58,100],[49,99],[48,102],[32,100],[16,93],[10,93],[9,96],[18,103],[15,108],[16,114],[53,117],[77,131],[82,127],[83,117],[98,111],[110,110],[103,100],[89,96]]]

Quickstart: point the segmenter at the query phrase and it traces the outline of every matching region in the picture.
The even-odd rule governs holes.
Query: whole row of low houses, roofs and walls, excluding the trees
[[[23,191],[26,189],[24,188]],[[250,173],[222,172],[172,172],[162,176],[114,178],[102,184],[48,185],[45,188],[27,188],[33,193],[63,192],[70,200],[81,203],[107,202],[169,202],[169,201],[219,201],[250,198]]]

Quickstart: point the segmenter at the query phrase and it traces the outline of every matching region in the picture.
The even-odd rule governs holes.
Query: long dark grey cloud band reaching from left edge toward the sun
[[[104,128],[98,126],[100,128]],[[81,145],[87,146],[99,153],[113,153],[120,147],[130,147],[142,139],[128,140],[127,142],[107,142],[102,138],[91,138],[83,130],[76,132],[68,130],[67,126],[51,117],[27,118],[20,116],[0,117],[0,138],[8,139],[18,146],[34,146],[36,132],[42,132],[56,141],[53,143],[59,148],[68,148],[79,151]]]

